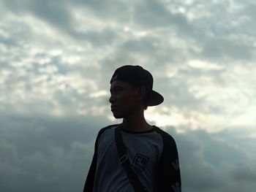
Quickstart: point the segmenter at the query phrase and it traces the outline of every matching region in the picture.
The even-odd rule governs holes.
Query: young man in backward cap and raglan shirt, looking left
[[[83,192],[181,191],[176,142],[149,125],[144,110],[164,101],[141,66],[121,66],[110,80],[110,104],[122,123],[102,128]]]

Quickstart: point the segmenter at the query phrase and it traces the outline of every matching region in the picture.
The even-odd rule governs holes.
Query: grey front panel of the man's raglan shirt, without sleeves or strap
[[[133,191],[118,159],[114,139],[115,128],[116,126],[110,126],[99,136],[94,178],[94,191],[97,192]],[[163,148],[162,137],[157,133],[156,128],[154,126],[150,131],[141,132],[121,131],[132,169],[148,191],[156,191],[157,163]]]

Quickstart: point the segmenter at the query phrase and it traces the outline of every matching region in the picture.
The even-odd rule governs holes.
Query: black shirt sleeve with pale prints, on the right
[[[157,188],[159,192],[181,192],[176,142],[169,134],[162,132],[163,150],[157,166]]]

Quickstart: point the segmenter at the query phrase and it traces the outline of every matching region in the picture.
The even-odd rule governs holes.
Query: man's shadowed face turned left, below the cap
[[[129,82],[115,80],[110,86],[111,111],[115,118],[126,118],[138,110],[138,88],[132,87]]]

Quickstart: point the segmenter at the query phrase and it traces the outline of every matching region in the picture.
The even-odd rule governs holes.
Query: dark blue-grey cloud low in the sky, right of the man
[[[231,191],[241,185],[249,190],[254,185],[256,164],[250,161],[252,156],[242,140],[241,145],[236,145],[226,137],[217,137],[220,133],[198,130],[176,134],[173,128],[167,131],[178,146],[184,191]],[[252,150],[252,146],[248,149]]]

